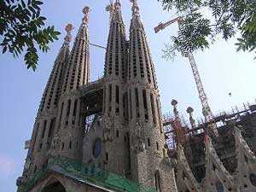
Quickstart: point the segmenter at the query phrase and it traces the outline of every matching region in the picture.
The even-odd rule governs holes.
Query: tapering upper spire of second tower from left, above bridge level
[[[62,93],[76,90],[81,85],[87,84],[90,78],[90,50],[89,50],[89,13],[88,6],[83,9],[84,17],[75,38],[73,49],[68,61]]]

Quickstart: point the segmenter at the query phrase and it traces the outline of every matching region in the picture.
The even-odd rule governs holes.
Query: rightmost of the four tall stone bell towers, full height
[[[155,186],[157,191],[176,191],[174,174],[166,154],[154,63],[137,0],[132,2],[128,58],[131,178],[147,186]]]

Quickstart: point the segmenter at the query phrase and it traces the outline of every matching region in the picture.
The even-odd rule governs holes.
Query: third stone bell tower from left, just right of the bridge
[[[125,129],[120,125],[123,124],[125,116],[124,102],[124,84],[126,79],[127,65],[127,47],[125,38],[125,25],[121,14],[121,3],[115,1],[113,9],[113,17],[110,21],[108,33],[108,45],[105,60],[104,79],[104,98],[103,98],[103,122],[114,122],[111,130],[118,131],[119,136],[125,136]],[[108,130],[109,123],[104,124],[103,129]],[[111,125],[112,126],[112,125]],[[108,163],[104,169],[109,172],[115,172],[120,175],[124,174],[124,170],[130,170],[127,161],[127,145],[123,143],[122,137],[114,139],[112,142],[106,141],[104,150],[108,154]],[[115,148],[119,146],[119,148]],[[119,166],[116,166],[119,162]]]

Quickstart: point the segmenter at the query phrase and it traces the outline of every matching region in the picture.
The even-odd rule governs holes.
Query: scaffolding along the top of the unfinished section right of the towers
[[[176,103],[177,104],[177,103]],[[195,122],[195,119],[192,116],[193,109],[188,108],[187,112],[189,113],[190,125],[186,120],[178,119],[177,121],[177,107],[174,106],[173,113],[166,113],[163,116],[164,119],[164,131],[166,135],[166,146],[169,149],[169,153],[174,154],[176,151],[178,141],[191,141],[195,143],[201,143],[199,137],[205,134],[207,127],[211,122],[206,122],[203,119],[200,119]],[[222,127],[229,125],[230,123],[236,123],[237,125],[241,124],[241,121],[247,117],[248,114],[256,112],[256,104],[250,105],[249,103],[243,104],[241,107],[236,107],[230,112],[221,112],[216,116],[213,116],[213,121],[217,125],[217,130],[221,130]],[[178,122],[178,124],[177,124]],[[183,134],[177,134],[177,128],[183,130]],[[185,134],[185,135],[184,135]],[[252,138],[247,137],[248,142]]]

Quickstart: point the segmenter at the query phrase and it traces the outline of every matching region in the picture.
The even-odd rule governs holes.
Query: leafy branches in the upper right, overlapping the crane
[[[166,45],[166,58],[175,55],[176,51],[186,55],[188,50],[206,49],[218,35],[228,40],[240,34],[236,43],[238,51],[250,52],[256,48],[255,0],[158,1],[164,9],[176,9],[179,15],[184,15],[177,36],[172,36],[172,44]],[[208,12],[212,17],[207,18]]]

